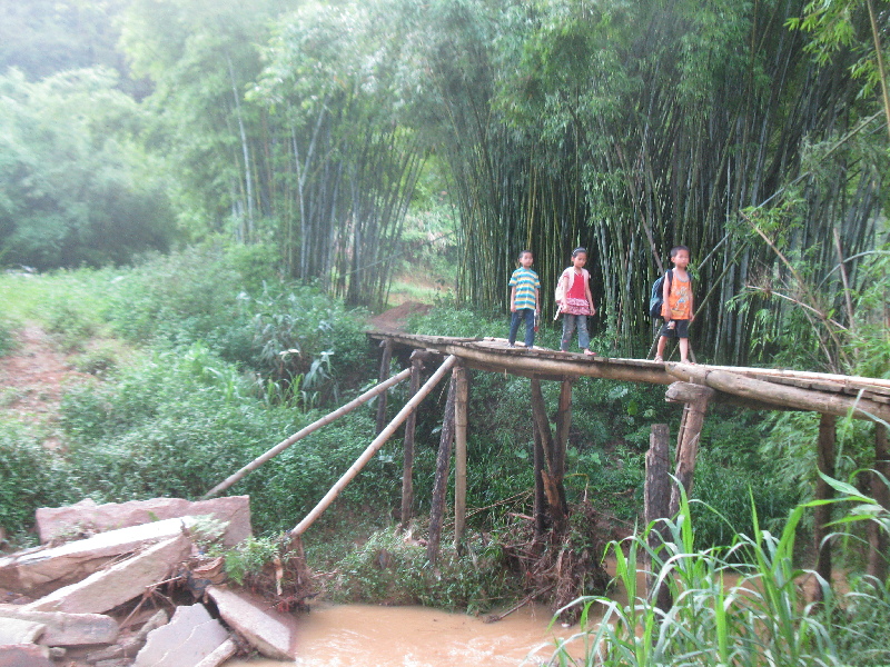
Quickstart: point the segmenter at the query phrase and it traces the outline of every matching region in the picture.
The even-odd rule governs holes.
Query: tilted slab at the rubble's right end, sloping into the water
[[[207,589],[222,620],[267,658],[296,658],[295,621],[291,616],[268,608],[245,593],[212,586]]]

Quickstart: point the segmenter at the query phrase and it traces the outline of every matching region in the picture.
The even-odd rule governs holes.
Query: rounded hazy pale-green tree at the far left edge
[[[136,102],[108,70],[0,76],[0,260],[39,269],[167,249],[174,217]]]

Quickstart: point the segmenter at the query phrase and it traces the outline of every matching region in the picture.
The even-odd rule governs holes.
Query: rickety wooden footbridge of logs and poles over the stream
[[[433,489],[428,555],[435,561],[441,544],[443,516],[445,514],[446,484],[451,465],[452,446],[455,459],[455,541],[463,541],[466,517],[466,430],[468,386],[466,370],[527,377],[531,380],[531,417],[534,422],[535,504],[534,520],[537,536],[552,528],[565,526],[567,506],[563,488],[566,444],[572,421],[572,386],[581,377],[665,385],[665,398],[682,404],[683,415],[676,439],[673,475],[670,480],[668,461],[669,431],[666,425],[653,425],[651,449],[646,456],[646,524],[673,516],[680,504],[680,486],[689,494],[695,469],[699,437],[706,410],[712,402],[726,402],[751,409],[809,410],[821,415],[819,429],[819,470],[828,477],[834,476],[835,424],[839,417],[870,420],[874,429],[874,472],[871,475],[871,492],[884,508],[890,508],[890,490],[883,479],[890,479],[890,452],[888,452],[888,425],[890,425],[890,380],[848,377],[818,372],[780,370],[768,368],[736,368],[705,365],[655,362],[643,359],[617,359],[590,357],[580,354],[557,352],[541,348],[525,349],[521,345],[511,348],[505,339],[455,338],[444,336],[418,336],[400,331],[377,330],[368,337],[378,342],[380,355],[379,384],[363,396],[327,415],[270,449],[264,456],[218,485],[207,496],[215,495],[235,484],[313,430],[329,424],[339,416],[366,402],[375,396],[377,404],[377,437],[365,452],[347,470],[291,531],[301,535],[334,498],[373,458],[376,451],[405,424],[404,474],[402,494],[402,525],[412,519],[414,424],[416,409],[448,371],[451,387],[446,401],[445,418],[439,439],[436,480]],[[409,367],[390,377],[393,358]],[[432,372],[421,386],[425,370]],[[411,378],[409,399],[398,415],[387,424],[386,390]],[[561,382],[560,401],[555,418],[555,431],[544,404],[542,381]],[[517,416],[518,417],[518,416]],[[883,476],[883,479],[881,478]],[[820,479],[817,498],[829,499],[832,488]],[[830,522],[830,505],[815,510],[814,545],[818,552],[817,571],[831,580],[831,550],[824,537]],[[883,580],[887,575],[887,536],[876,526],[870,529],[869,574]],[[819,595],[819,594],[817,594]]]

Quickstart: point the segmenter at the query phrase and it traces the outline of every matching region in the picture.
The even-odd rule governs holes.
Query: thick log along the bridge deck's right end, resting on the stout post
[[[846,417],[852,412],[857,419],[890,420],[890,406],[856,396],[812,391],[799,387],[755,380],[725,370],[711,370],[689,364],[665,364],[668,372],[676,379],[705,385],[726,394],[751,400],[765,400],[800,410]]]

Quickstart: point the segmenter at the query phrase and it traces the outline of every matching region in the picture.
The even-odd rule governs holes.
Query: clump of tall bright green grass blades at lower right
[[[857,502],[869,511],[877,507],[853,487],[832,484],[843,495],[837,502]],[[849,623],[839,621],[837,610],[847,608],[850,600],[833,597],[824,580],[793,560],[801,518],[818,504],[799,505],[780,535],[761,529],[753,511],[751,535],[738,535],[729,547],[696,550],[692,512],[684,497],[676,519],[662,525],[659,548],[647,546],[653,526],[610,545],[617,563],[616,579],[626,589],[629,603],[605,597],[573,603],[583,607],[582,630],[557,645],[547,664],[809,667],[848,663],[849,655],[843,655],[837,639],[844,636],[849,644]],[[860,509],[853,511],[859,518],[869,516]],[[637,571],[647,569],[646,556],[656,586],[671,593],[673,606],[666,611],[656,607],[654,595],[646,597],[637,589]],[[815,577],[823,588],[829,600],[825,607],[808,604],[801,586],[805,577]],[[860,606],[867,601],[886,613],[887,597],[868,590],[857,595]],[[593,625],[597,608],[603,618]],[[578,644],[584,647],[581,659],[572,657],[577,655],[576,648],[570,650]]]

